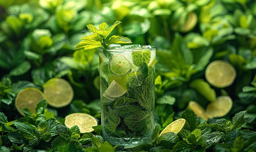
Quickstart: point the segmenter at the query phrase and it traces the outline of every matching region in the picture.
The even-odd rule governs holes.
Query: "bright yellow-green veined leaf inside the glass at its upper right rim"
[[[150,61],[150,51],[134,51],[132,52],[132,62],[135,66],[142,66],[142,64],[148,65]]]

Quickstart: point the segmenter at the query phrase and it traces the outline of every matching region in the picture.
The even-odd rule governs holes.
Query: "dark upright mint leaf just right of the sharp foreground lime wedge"
[[[181,117],[188,121],[191,131],[195,130],[196,126],[198,125],[198,118],[192,110],[184,110]]]

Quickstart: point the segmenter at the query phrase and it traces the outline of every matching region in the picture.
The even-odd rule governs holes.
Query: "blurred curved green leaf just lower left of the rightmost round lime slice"
[[[207,100],[212,102],[216,100],[215,90],[212,89],[211,86],[203,79],[195,79],[189,84],[189,86],[198,91],[198,93],[203,95]]]

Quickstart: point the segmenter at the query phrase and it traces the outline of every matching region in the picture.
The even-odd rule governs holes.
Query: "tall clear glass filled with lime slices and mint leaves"
[[[155,47],[112,44],[99,48],[103,138],[132,148],[153,132]]]

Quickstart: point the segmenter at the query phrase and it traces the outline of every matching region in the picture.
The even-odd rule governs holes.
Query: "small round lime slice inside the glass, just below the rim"
[[[110,61],[110,69],[116,75],[125,75],[130,70],[130,62],[124,55],[114,55]]]

